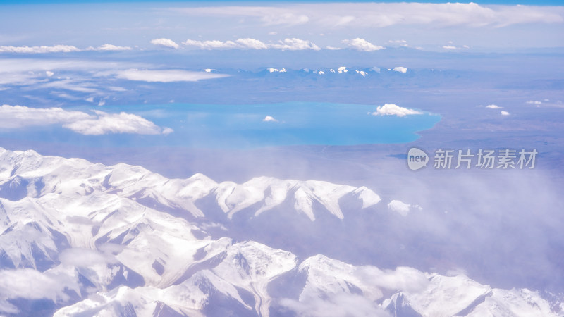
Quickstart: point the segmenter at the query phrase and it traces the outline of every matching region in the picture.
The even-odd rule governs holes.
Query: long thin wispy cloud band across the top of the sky
[[[263,25],[320,25],[324,27],[389,27],[434,25],[448,27],[505,27],[523,23],[563,23],[551,7],[481,6],[479,4],[296,4],[291,6],[214,6],[171,8],[186,15],[255,19]]]

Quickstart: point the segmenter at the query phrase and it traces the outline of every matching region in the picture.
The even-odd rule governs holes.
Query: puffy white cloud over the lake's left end
[[[135,133],[142,135],[168,134],[170,128],[160,128],[151,121],[131,113],[105,113],[68,111],[63,108],[29,108],[26,106],[0,106],[1,128],[61,124],[63,128],[82,135],[108,133]]]

